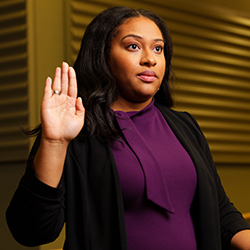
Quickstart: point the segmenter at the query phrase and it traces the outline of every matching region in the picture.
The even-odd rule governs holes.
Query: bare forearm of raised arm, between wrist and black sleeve
[[[33,161],[37,178],[51,186],[57,187],[63,172],[68,142],[56,142],[41,139],[40,147]]]

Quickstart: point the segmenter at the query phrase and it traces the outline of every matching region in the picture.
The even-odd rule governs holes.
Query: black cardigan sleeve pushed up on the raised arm
[[[42,183],[32,162],[40,144],[38,136],[27,168],[6,211],[8,227],[17,242],[38,246],[54,241],[64,224],[63,178],[58,188]]]

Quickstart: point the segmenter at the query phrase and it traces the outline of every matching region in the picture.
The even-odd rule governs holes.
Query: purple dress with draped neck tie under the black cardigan
[[[193,162],[151,102],[139,112],[115,111],[123,143],[110,142],[123,193],[129,250],[195,250],[190,207]]]

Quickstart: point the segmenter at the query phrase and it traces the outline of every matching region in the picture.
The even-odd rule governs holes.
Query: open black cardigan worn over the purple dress
[[[198,182],[191,212],[198,249],[229,249],[232,236],[250,225],[226,196],[205,137],[188,113],[155,105],[196,167]],[[108,143],[97,137],[73,140],[60,185],[52,188],[32,170],[39,140],[6,213],[14,238],[27,246],[49,243],[66,222],[64,249],[127,250],[122,192]]]

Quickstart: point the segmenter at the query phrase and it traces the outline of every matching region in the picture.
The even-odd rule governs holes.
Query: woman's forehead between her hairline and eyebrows
[[[133,17],[121,24],[118,28],[117,35],[123,37],[128,34],[152,37],[152,39],[162,38],[162,33],[155,22],[143,16]]]

